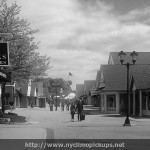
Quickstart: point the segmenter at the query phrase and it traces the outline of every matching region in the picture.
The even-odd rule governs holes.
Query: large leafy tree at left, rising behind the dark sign
[[[34,42],[33,35],[38,30],[31,29],[27,20],[19,18],[20,11],[16,3],[8,6],[7,0],[0,0],[0,33],[13,35],[11,39],[1,39],[9,41],[10,49],[10,66],[1,67],[1,69],[6,73],[11,72],[12,82],[46,76],[46,71],[50,68],[50,57],[41,56],[36,51],[38,43]]]

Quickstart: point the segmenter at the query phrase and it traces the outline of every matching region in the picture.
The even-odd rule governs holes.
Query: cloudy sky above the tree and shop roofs
[[[49,77],[72,80],[72,89],[95,80],[111,51],[150,50],[150,0],[8,0],[21,6],[51,57]]]

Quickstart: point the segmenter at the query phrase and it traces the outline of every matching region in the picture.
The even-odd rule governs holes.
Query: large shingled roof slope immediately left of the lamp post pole
[[[103,74],[103,77],[104,77],[103,91],[119,91],[119,90],[127,89],[126,66],[101,65],[100,74]],[[99,81],[99,82],[101,82],[101,81]]]

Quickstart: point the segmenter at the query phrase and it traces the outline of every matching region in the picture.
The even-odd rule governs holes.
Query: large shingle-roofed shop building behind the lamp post
[[[101,65],[96,79],[100,109],[104,113],[126,113],[127,68],[121,65],[118,52],[111,52],[108,65]],[[126,53],[125,63],[131,62]],[[139,52],[135,65],[130,67],[130,115],[150,115],[150,53]]]

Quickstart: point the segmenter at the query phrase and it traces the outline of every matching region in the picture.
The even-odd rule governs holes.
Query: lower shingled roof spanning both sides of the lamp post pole
[[[126,66],[101,65],[100,74],[101,73],[103,73],[104,76],[105,87],[103,88],[103,91],[119,91],[127,89]],[[135,64],[130,66],[130,79],[131,77],[136,89],[150,89],[150,65]]]

